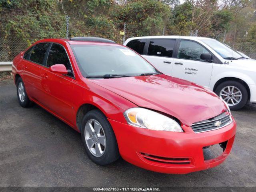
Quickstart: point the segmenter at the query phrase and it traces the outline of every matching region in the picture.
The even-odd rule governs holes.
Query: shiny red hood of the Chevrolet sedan
[[[137,106],[169,114],[189,126],[217,116],[226,109],[222,100],[212,91],[163,74],[94,79],[92,82]]]

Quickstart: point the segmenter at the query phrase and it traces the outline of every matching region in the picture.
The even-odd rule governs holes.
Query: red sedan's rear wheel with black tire
[[[20,90],[20,92],[19,92],[20,88],[22,90]],[[27,92],[26,92],[26,88],[24,86],[24,82],[22,81],[21,77],[19,77],[18,80],[17,80],[16,90],[17,90],[17,97],[18,97],[18,101],[20,103],[20,106],[22,106],[22,107],[29,107],[29,106],[31,106],[32,102],[28,98],[28,95],[27,95]],[[22,95],[22,97],[20,97],[20,95]]]

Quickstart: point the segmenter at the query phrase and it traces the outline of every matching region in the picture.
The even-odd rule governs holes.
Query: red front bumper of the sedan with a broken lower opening
[[[189,126],[182,126],[185,132],[179,133],[148,130],[108,120],[124,160],[162,173],[186,174],[219,165],[230,153],[236,134],[234,118],[224,128],[197,134]],[[222,142],[226,142],[224,152],[217,158],[204,160],[203,147]],[[148,154],[150,159],[145,158]],[[161,157],[160,161],[158,157]]]

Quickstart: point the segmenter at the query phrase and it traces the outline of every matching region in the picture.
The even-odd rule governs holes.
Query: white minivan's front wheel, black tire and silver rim
[[[228,92],[228,87],[230,88],[230,92]],[[234,91],[232,92],[233,87],[234,87]],[[223,90],[224,90],[224,92],[223,92]],[[238,92],[238,90],[240,92]],[[224,96],[224,94],[226,94],[226,92],[228,92],[228,94],[227,94],[227,95],[229,95],[228,98],[226,96]],[[232,95],[232,93],[236,93],[236,92],[238,92],[238,93]],[[244,84],[242,84],[238,81],[228,80],[228,81],[222,82],[221,84],[219,84],[217,86],[215,93],[220,98],[225,100],[226,102],[227,102],[227,100],[229,100],[228,105],[229,105],[230,110],[239,110],[239,109],[243,108],[248,101],[248,92],[246,90],[246,87],[244,86]],[[231,93],[231,94],[229,94],[229,93]],[[241,97],[236,97],[236,96],[240,96],[240,95],[241,95]],[[232,97],[230,97],[230,96],[232,96]],[[233,100],[234,104],[232,103],[232,100]]]

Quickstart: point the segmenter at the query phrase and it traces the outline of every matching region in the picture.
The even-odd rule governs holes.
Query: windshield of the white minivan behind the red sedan
[[[201,40],[208,46],[210,46],[214,51],[216,51],[222,58],[240,58],[242,55],[240,55],[238,52],[232,50],[228,46],[224,45],[223,43],[215,40],[215,39],[204,39]]]

